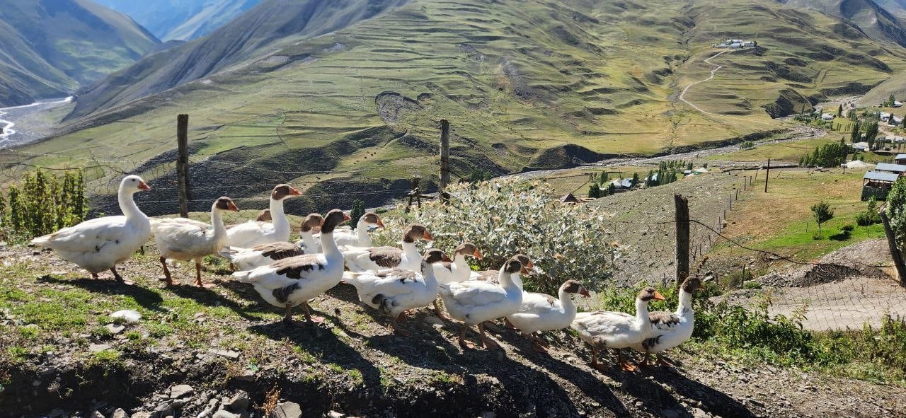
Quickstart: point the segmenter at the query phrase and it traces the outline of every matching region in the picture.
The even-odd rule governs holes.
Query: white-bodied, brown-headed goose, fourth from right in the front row
[[[516,284],[516,276],[522,271],[522,263],[509,260],[499,272],[499,285],[482,280],[453,282],[440,286],[440,298],[450,316],[465,322],[459,332],[459,346],[473,348],[466,342],[466,332],[473,325],[478,326],[483,347],[500,347],[485,336],[484,322],[503,318],[515,313],[522,304],[522,289]]]

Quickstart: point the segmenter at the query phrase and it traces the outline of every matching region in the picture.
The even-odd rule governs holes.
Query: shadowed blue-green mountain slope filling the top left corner
[[[0,0],[0,105],[72,92],[157,43],[128,16],[90,0]]]

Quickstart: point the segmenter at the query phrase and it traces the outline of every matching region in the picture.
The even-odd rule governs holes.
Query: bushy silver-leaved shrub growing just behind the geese
[[[544,182],[496,179],[462,183],[447,189],[449,203],[431,201],[404,217],[385,219],[375,245],[399,245],[406,223],[422,223],[435,242],[452,256],[460,242],[477,245],[484,255],[473,261],[496,270],[516,253],[528,255],[535,271],[524,278],[525,290],[556,294],[564,280],[580,280],[599,290],[612,277],[620,247],[612,242],[609,216],[585,204],[562,204]]]

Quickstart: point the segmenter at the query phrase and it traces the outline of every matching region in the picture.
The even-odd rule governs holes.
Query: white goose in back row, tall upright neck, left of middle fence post
[[[302,195],[290,185],[276,185],[271,192],[270,211],[273,223],[249,221],[226,231],[226,245],[230,247],[252,248],[271,242],[289,241],[289,219],[284,213],[283,201],[289,196]]]

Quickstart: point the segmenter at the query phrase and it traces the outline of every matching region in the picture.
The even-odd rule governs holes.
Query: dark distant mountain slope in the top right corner
[[[779,0],[797,8],[810,8],[824,14],[841,17],[879,41],[906,46],[906,20],[895,12],[901,0],[888,0],[888,7],[872,0]],[[890,11],[892,10],[892,11]]]

